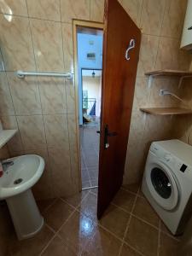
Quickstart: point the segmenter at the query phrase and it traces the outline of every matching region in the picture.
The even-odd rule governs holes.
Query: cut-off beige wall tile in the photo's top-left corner
[[[0,10],[7,15],[27,16],[26,0],[5,0],[0,2]]]

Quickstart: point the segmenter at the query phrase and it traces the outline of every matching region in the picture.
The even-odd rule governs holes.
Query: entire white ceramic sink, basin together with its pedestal
[[[44,225],[44,218],[32,195],[32,186],[44,172],[44,159],[36,154],[11,158],[0,177],[0,200],[7,201],[19,240],[35,236]]]

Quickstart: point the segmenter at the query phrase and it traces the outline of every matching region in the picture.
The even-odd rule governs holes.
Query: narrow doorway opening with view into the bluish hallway
[[[98,186],[99,143],[102,102],[102,24],[79,21],[76,88],[78,90],[80,176],[82,189]],[[91,27],[95,26],[95,27]],[[77,76],[78,74],[78,76]]]

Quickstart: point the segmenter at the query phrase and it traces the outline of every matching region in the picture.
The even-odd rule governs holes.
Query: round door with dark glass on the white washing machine
[[[177,179],[172,170],[158,162],[149,164],[145,173],[146,183],[154,201],[166,210],[174,209],[179,193]]]

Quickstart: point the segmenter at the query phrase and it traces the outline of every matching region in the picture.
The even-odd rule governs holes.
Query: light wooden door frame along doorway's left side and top
[[[80,137],[79,137],[79,86],[78,86],[78,40],[77,32],[78,26],[84,26],[87,28],[95,28],[102,30],[104,24],[95,21],[86,20],[73,20],[73,63],[74,63],[74,90],[75,90],[75,121],[76,121],[76,140],[78,148],[78,169],[79,169],[79,191],[82,190],[82,179],[81,179],[81,157],[80,157]]]

